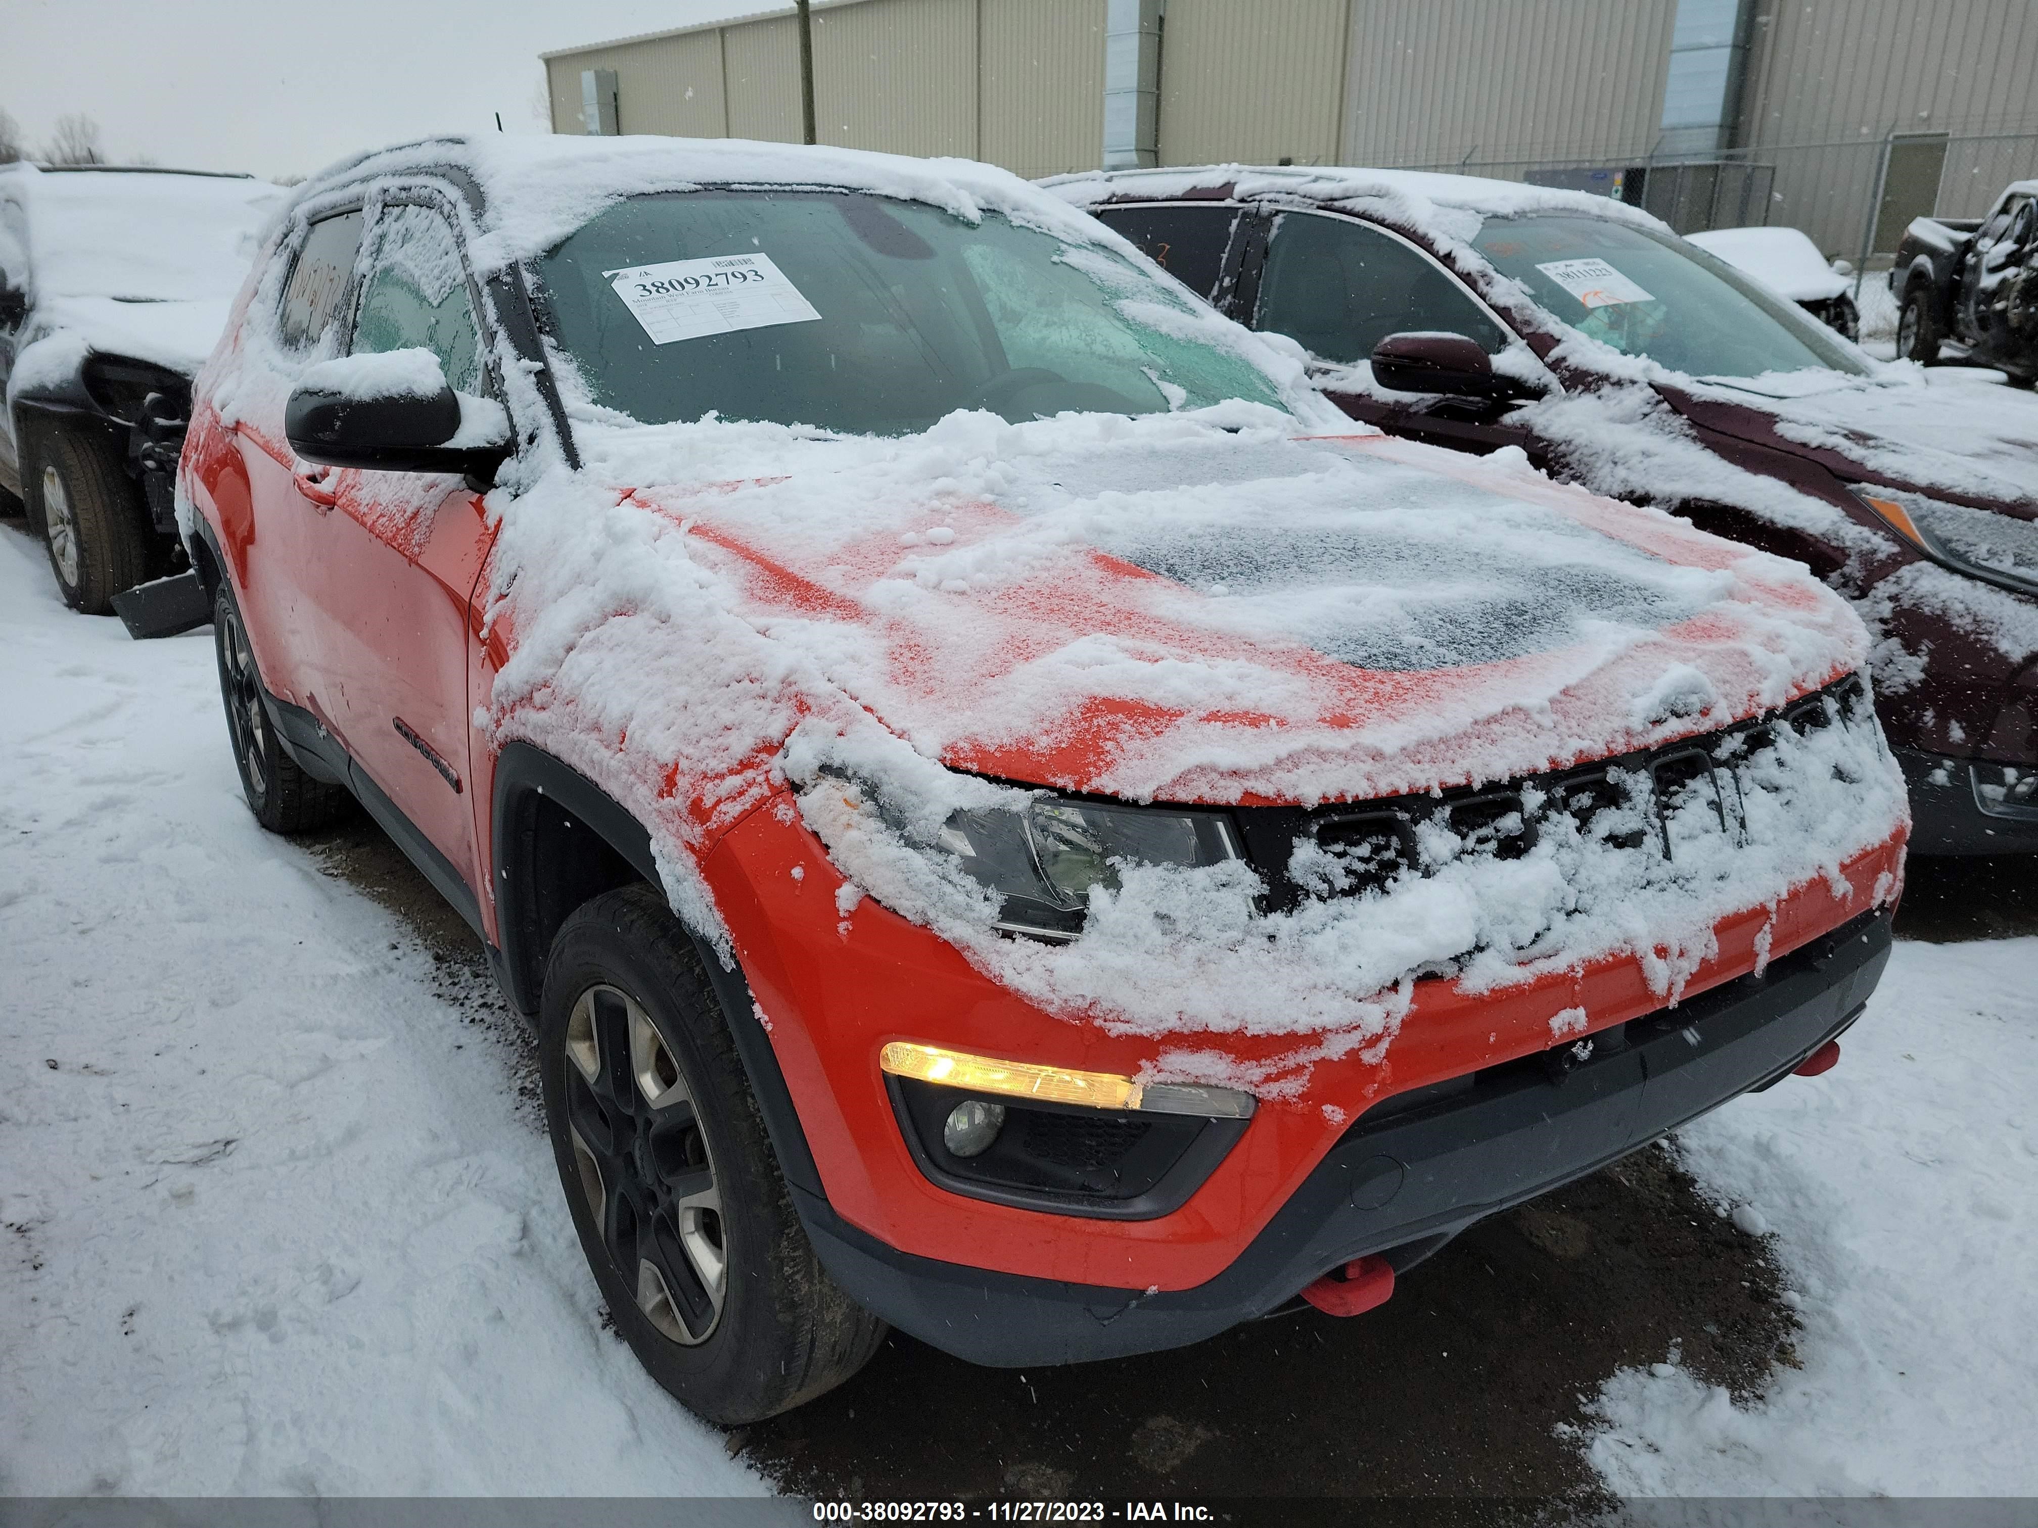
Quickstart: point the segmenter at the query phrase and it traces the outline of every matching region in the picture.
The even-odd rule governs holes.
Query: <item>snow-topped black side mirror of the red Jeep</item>
[[[308,462],[489,481],[509,454],[509,416],[454,393],[430,350],[387,350],[308,369],[283,407],[283,436]]]

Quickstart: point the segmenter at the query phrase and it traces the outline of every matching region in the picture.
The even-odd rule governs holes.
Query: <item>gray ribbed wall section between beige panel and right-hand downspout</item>
[[[1502,177],[1641,163],[1675,20],[1677,0],[1351,0],[1339,157]]]

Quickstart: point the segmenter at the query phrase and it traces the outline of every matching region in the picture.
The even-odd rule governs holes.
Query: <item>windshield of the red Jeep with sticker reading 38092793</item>
[[[540,265],[595,403],[644,424],[911,434],[956,410],[1033,420],[1280,405],[1172,285],[990,214],[846,192],[620,202]]]

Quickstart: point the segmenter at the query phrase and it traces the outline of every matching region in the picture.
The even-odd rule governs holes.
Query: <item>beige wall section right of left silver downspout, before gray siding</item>
[[[1353,0],[1168,0],[1160,163],[1337,163]]]

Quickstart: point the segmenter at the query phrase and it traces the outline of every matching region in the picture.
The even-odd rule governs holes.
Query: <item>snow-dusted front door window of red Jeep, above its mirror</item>
[[[481,393],[481,328],[467,295],[461,244],[430,208],[387,208],[355,316],[355,354],[424,348],[457,393]]]

